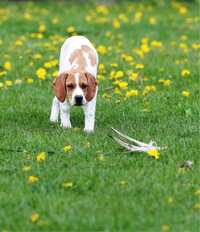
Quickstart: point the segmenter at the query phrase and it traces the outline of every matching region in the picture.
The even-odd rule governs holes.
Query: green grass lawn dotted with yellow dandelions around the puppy
[[[0,231],[200,230],[198,5],[156,2],[0,2]],[[90,135],[79,108],[49,122],[73,34],[100,56]],[[167,149],[127,153],[111,126]]]

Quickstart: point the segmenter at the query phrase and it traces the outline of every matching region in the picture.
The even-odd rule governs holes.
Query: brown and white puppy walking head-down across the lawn
[[[85,132],[93,132],[95,124],[98,54],[84,36],[72,36],[65,40],[60,50],[59,73],[53,82],[53,98],[50,121],[71,128],[70,108],[81,106],[85,115]]]

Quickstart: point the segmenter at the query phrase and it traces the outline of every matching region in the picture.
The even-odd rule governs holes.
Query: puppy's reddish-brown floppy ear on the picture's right
[[[87,101],[91,101],[93,99],[93,97],[95,96],[96,93],[96,86],[97,86],[97,81],[95,79],[94,76],[92,76],[92,74],[86,72],[85,76],[87,78],[87,93],[86,93],[86,100]]]

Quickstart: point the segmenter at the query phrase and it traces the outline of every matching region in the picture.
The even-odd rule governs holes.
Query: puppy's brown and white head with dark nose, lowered
[[[55,96],[59,101],[67,99],[70,105],[84,105],[96,93],[97,81],[90,73],[64,72],[53,82]]]

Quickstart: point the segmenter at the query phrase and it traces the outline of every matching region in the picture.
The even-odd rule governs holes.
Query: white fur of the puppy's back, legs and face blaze
[[[93,51],[96,54],[97,64],[92,66],[87,56],[87,53],[84,53],[84,56],[86,57],[86,61],[87,61],[87,66],[86,66],[85,71],[91,73],[96,78],[97,66],[98,66],[98,54],[95,48],[93,47],[93,45],[90,43],[90,41],[84,36],[72,36],[65,40],[64,44],[61,47],[61,51],[60,51],[59,73],[68,71],[72,69],[73,67],[76,67],[77,64],[75,62],[71,64],[69,62],[69,58],[74,50],[81,48],[81,45],[89,46],[91,49],[93,49]],[[75,104],[75,100],[74,100],[75,96],[81,95],[83,96],[82,108],[85,114],[84,131],[93,132],[94,123],[95,123],[96,96],[97,96],[98,88],[96,88],[95,97],[90,102],[87,102],[83,94],[83,90],[78,85],[79,78],[80,78],[78,73],[75,75],[75,78],[76,78],[77,85],[76,85],[75,90],[73,91],[72,98],[70,99],[69,102],[65,100],[63,103],[61,103],[57,99],[57,97],[54,97],[52,108],[51,108],[50,121],[57,122],[59,111],[60,111],[61,126],[64,128],[71,128],[70,107]]]

